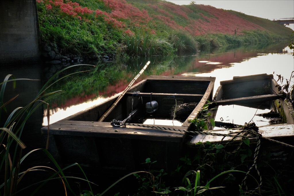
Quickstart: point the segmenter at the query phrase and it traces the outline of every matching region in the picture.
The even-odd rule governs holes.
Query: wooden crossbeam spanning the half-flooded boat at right
[[[225,99],[225,100],[219,100],[215,101],[213,103],[217,105],[233,105],[238,103],[254,103],[254,102],[265,102],[265,101],[270,101],[270,100],[276,100],[282,97],[282,93],[275,95],[275,94],[270,94],[270,95],[260,95],[260,96],[252,96],[252,97],[242,97],[242,98],[233,98],[233,99]]]

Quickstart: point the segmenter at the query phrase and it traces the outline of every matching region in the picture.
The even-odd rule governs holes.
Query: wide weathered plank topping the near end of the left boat
[[[178,126],[164,126],[166,128],[182,129]],[[47,134],[47,127],[41,129]],[[141,140],[176,141],[182,142],[186,137],[183,132],[158,130],[139,126],[113,127],[107,122],[88,122],[60,120],[50,125],[49,135],[76,135],[84,137],[129,138]]]

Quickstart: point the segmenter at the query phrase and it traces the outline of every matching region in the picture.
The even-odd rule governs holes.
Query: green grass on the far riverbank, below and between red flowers
[[[91,10],[100,9],[101,11],[111,12],[103,1],[93,0],[73,0],[83,7]],[[134,1],[128,0],[128,3],[136,6],[139,10],[145,9],[149,16],[158,14],[149,4],[156,5],[160,9],[165,9],[161,1]],[[165,2],[166,3],[166,2]],[[168,3],[172,4],[172,3]],[[201,14],[211,18],[213,13],[208,13],[201,9],[201,5],[184,6],[192,11],[186,13],[189,19],[204,19]],[[130,19],[119,19],[125,22],[126,29],[130,29],[134,36],[124,35],[123,30],[115,28],[103,17],[95,17],[95,13],[83,15],[90,22],[79,20],[75,17],[61,13],[56,8],[47,10],[44,4],[37,4],[38,18],[40,26],[41,41],[43,44],[55,43],[61,49],[62,53],[74,53],[78,55],[107,55],[116,53],[121,58],[129,56],[152,56],[168,55],[171,53],[183,53],[187,51],[205,50],[213,47],[224,47],[228,45],[241,46],[250,43],[269,42],[286,40],[291,31],[267,19],[248,16],[236,11],[228,11],[245,20],[258,24],[265,31],[247,31],[242,35],[230,34],[205,34],[201,36],[191,36],[184,30],[175,30],[167,26],[162,21],[153,17],[146,25],[147,29],[154,29],[153,35],[145,27],[132,26]],[[168,14],[172,20],[180,26],[187,26],[189,20],[181,15],[171,11]]]

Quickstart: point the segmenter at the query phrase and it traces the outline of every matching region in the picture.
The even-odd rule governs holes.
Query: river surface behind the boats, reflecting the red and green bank
[[[56,88],[54,90],[62,89],[66,90],[67,93],[64,93],[63,97],[58,97],[56,100],[51,101],[51,106],[54,108],[51,113],[53,114],[57,110],[66,111],[69,110],[69,107],[74,108],[73,105],[84,102],[91,103],[91,100],[101,102],[103,101],[101,98],[120,93],[141,71],[148,60],[151,63],[137,82],[150,75],[212,76],[216,77],[215,93],[220,81],[230,80],[233,76],[259,73],[273,74],[275,71],[276,74],[290,78],[294,60],[290,54],[290,49],[286,47],[287,45],[287,42],[271,45],[260,44],[241,48],[221,48],[185,56],[153,56],[99,62],[93,71],[74,75],[54,87]],[[68,114],[63,113],[56,119],[65,118],[77,111],[88,108],[86,105],[80,107],[82,108],[73,109]],[[53,123],[53,121],[50,123]]]

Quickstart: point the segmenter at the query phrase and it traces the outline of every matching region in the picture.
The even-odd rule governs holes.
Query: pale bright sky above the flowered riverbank
[[[178,5],[188,5],[192,0],[166,0]],[[294,18],[294,0],[194,0],[196,4],[239,11],[265,19]],[[294,24],[290,24],[294,29]]]

